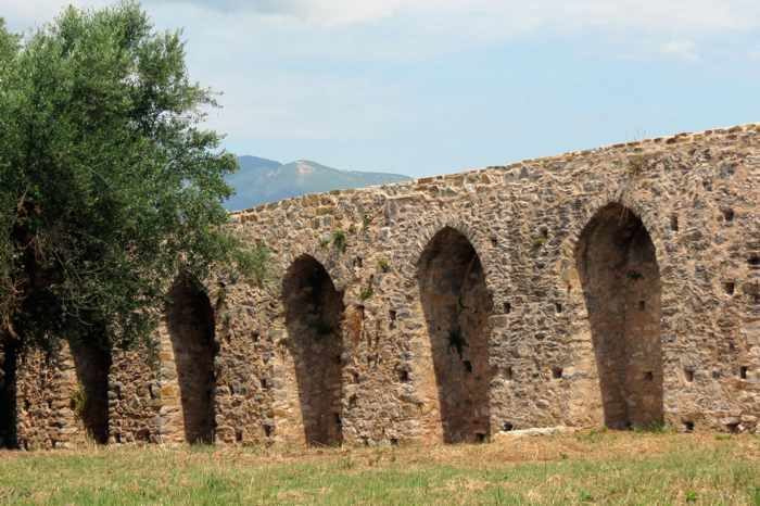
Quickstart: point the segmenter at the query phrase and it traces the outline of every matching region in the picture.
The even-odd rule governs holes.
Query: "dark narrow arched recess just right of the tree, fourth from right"
[[[213,443],[217,345],[214,309],[208,295],[198,282],[180,277],[169,291],[166,316],[177,366],[185,441]]]

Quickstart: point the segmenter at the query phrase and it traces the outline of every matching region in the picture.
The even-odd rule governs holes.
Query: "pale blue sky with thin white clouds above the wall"
[[[16,30],[68,2],[3,0]],[[101,7],[105,0],[78,0]],[[239,154],[422,176],[760,121],[757,0],[145,0]]]

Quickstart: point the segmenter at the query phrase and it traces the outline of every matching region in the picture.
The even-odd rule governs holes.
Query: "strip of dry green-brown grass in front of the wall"
[[[4,452],[0,503],[760,506],[760,437],[603,431],[460,446]]]

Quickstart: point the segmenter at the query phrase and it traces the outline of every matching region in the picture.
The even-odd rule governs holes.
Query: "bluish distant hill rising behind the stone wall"
[[[240,170],[227,176],[236,194],[225,202],[229,211],[240,211],[304,193],[345,190],[388,182],[407,181],[398,174],[339,170],[316,162],[299,160],[281,164],[257,156],[239,156]]]

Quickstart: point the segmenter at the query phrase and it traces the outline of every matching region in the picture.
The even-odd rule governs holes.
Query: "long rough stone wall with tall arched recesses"
[[[206,281],[114,356],[110,440],[757,431],[759,199],[749,125],[237,213],[268,278]]]

